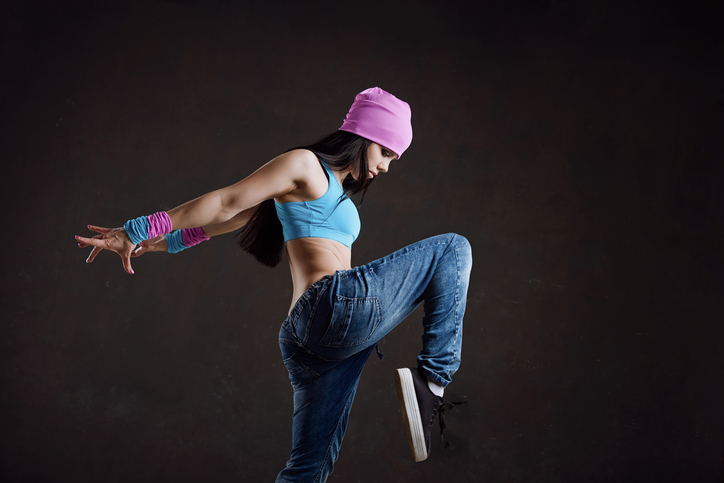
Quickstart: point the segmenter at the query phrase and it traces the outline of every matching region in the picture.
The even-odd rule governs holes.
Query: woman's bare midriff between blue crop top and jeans
[[[349,270],[352,250],[328,238],[295,238],[286,243],[289,269],[292,273],[292,307],[297,299],[325,275],[337,270]]]

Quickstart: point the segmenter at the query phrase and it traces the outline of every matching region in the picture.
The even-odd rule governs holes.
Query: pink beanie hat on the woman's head
[[[340,131],[347,131],[393,151],[397,157],[412,142],[410,105],[379,87],[357,94]]]

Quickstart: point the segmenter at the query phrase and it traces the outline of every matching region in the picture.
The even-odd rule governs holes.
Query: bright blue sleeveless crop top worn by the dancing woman
[[[295,238],[329,238],[350,248],[361,227],[357,207],[344,195],[334,173],[321,163],[329,187],[321,198],[313,201],[274,202],[279,221],[282,222],[284,243]]]

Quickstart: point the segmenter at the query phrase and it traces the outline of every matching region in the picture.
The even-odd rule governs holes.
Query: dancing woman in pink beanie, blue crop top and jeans
[[[360,221],[347,197],[364,197],[375,176],[409,147],[410,115],[406,102],[367,89],[339,131],[238,183],[122,228],[89,225],[100,233],[93,238],[76,236],[81,247],[93,247],[88,262],[111,250],[130,274],[131,258],[145,252],[175,253],[239,228],[242,248],[266,265],[278,264],[286,247],[294,290],[279,346],[294,416],[291,456],[279,482],[327,479],[362,367],[377,342],[422,302],[418,367],[398,369],[395,380],[415,460],[429,454],[430,428],[445,409],[443,389],[460,365],[470,245],[459,235],[440,235],[352,268]]]

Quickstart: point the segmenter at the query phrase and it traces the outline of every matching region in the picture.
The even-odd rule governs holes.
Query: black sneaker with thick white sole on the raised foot
[[[443,398],[430,391],[427,378],[414,368],[397,369],[395,383],[407,443],[415,461],[423,461],[430,454],[432,423],[435,421],[438,409],[444,410]]]

